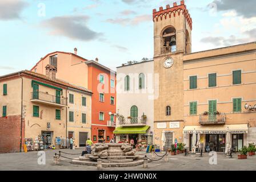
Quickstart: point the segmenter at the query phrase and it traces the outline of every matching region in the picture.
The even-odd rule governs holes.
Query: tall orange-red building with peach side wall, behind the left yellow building
[[[74,53],[60,51],[49,53],[31,71],[45,75],[44,68],[47,64],[57,68],[57,78],[93,92],[91,139],[94,143],[110,142],[114,137],[115,129],[116,73],[99,64],[98,59],[89,61],[78,56],[77,48],[74,49]]]

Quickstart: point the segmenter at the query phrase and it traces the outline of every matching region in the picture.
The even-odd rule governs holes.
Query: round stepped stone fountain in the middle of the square
[[[97,166],[101,160],[102,167],[131,167],[144,162],[143,155],[135,155],[135,150],[126,143],[97,143],[91,147],[91,154],[80,156],[72,164]]]

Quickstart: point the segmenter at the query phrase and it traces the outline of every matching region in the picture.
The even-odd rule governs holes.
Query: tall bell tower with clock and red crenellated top
[[[158,97],[154,100],[154,122],[179,122],[179,129],[170,129],[174,139],[183,142],[183,55],[191,53],[192,19],[185,2],[166,9],[153,10],[154,22],[154,73],[159,74]],[[156,91],[157,92],[157,91]],[[167,107],[170,106],[170,112]],[[161,138],[160,130],[155,134]],[[159,141],[155,140],[156,144]],[[160,142],[161,143],[161,142]]]

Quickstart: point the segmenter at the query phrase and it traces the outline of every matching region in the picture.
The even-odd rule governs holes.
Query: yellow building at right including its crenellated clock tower
[[[184,1],[154,9],[153,21],[155,144],[169,150],[183,142],[191,149],[193,133],[205,150],[256,143],[256,43],[191,53]]]

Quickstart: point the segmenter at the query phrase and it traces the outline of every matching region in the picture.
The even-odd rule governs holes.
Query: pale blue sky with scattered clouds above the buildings
[[[54,51],[115,70],[153,58],[153,9],[171,0],[0,0],[0,75],[31,69]],[[180,4],[177,1],[178,5]],[[192,52],[256,41],[255,0],[185,0]]]

